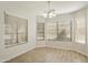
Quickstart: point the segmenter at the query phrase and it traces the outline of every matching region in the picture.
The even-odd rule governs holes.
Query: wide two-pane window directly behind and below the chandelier
[[[71,41],[71,28],[70,17],[62,15],[58,20],[49,19],[47,22],[47,40]]]

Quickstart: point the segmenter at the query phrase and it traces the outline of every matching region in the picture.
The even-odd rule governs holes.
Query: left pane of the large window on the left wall
[[[13,22],[12,20],[14,20],[13,17],[6,14],[6,21],[4,21],[6,45],[17,43],[17,22]]]

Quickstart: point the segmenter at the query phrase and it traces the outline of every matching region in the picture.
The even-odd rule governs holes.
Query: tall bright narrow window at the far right
[[[79,11],[75,15],[76,24],[76,42],[86,43],[86,22],[85,22],[85,11]]]

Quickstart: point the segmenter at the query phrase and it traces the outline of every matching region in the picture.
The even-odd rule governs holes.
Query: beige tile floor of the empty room
[[[36,47],[7,63],[86,63],[88,57],[72,51]]]

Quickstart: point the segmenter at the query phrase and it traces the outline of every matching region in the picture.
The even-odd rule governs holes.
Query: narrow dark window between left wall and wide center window
[[[45,41],[45,18],[37,15],[37,40]]]

